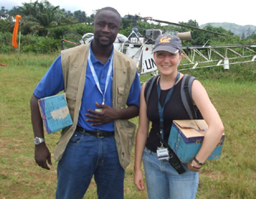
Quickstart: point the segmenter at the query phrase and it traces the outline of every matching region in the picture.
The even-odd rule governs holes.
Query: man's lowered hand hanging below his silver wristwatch
[[[50,170],[49,164],[52,164],[51,156],[50,151],[45,143],[41,143],[40,145],[35,146],[35,160],[36,164],[38,164],[41,168]]]

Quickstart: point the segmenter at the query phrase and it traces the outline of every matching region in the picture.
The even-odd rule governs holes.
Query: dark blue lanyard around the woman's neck
[[[178,81],[179,76],[180,76],[180,73],[178,72],[175,82],[174,82],[174,85]],[[173,85],[173,87],[174,87],[174,85]],[[168,100],[171,98],[171,96],[173,94],[173,87],[168,91],[168,95],[166,96],[166,99],[164,101],[164,107],[165,107],[165,104],[167,104]],[[164,140],[164,107],[162,108],[162,106],[160,104],[161,88],[160,88],[159,82],[157,85],[157,90],[158,90],[158,97],[159,97],[160,135],[161,135],[162,139]]]

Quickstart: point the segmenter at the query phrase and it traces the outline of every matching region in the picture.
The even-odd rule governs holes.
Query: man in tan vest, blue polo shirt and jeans
[[[73,125],[64,128],[55,149],[59,161],[56,198],[83,198],[92,176],[98,198],[123,198],[125,169],[130,163],[139,113],[140,79],[135,62],[113,48],[121,27],[111,7],[94,19],[94,39],[61,52],[31,97],[36,163],[50,169],[38,100],[64,90]],[[47,164],[48,163],[48,164]]]

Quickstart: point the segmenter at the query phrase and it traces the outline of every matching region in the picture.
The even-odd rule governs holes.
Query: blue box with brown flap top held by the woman
[[[207,128],[208,125],[203,119],[173,120],[168,145],[182,162],[191,162],[201,148]],[[225,134],[223,133],[219,144],[216,146],[216,149],[212,151],[207,160],[220,158],[224,138]]]

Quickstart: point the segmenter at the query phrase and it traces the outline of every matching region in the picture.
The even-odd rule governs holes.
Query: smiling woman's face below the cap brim
[[[169,53],[168,51],[157,51],[154,53],[154,62],[162,75],[168,75],[178,70],[183,55],[180,53]]]

